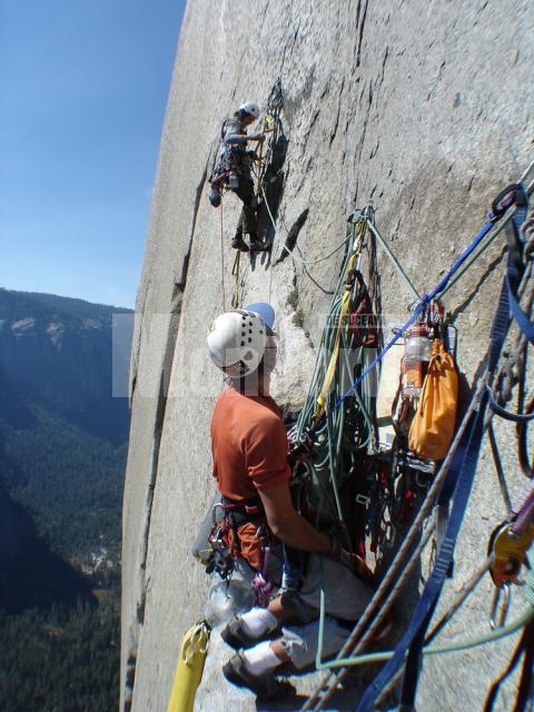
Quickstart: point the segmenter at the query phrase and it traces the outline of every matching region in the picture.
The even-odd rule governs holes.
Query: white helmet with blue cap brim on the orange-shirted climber
[[[265,303],[218,316],[208,333],[214,364],[234,378],[253,374],[264,358],[274,320],[275,310]]]

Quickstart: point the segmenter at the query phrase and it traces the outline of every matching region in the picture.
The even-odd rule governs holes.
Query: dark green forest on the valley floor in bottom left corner
[[[0,647],[2,712],[118,709],[118,586],[98,605],[0,612]]]

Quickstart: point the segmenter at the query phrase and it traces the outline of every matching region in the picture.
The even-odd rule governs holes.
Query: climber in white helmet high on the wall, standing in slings
[[[231,119],[226,119],[220,129],[220,155],[217,166],[209,179],[211,189],[209,200],[214,207],[220,205],[224,187],[228,187],[243,201],[243,210],[231,240],[235,249],[243,251],[263,250],[265,245],[257,235],[258,201],[254,191],[250,175],[255,151],[247,150],[248,141],[263,142],[264,134],[247,134],[247,127],[259,118],[259,107],[254,101],[243,103]],[[244,240],[244,233],[249,235],[250,248]]]

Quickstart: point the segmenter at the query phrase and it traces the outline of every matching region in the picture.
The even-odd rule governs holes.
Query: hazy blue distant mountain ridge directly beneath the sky
[[[8,408],[23,417],[23,402],[31,400],[95,435],[123,441],[129,414],[113,390],[126,396],[129,315],[82,299],[0,289],[0,388],[17,394],[4,403],[4,415]]]

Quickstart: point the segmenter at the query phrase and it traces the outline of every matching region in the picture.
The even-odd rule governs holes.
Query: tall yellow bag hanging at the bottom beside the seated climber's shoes
[[[209,634],[209,625],[202,622],[191,625],[184,635],[167,712],[192,712],[195,695],[202,679]]]

